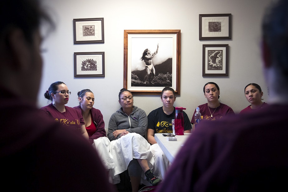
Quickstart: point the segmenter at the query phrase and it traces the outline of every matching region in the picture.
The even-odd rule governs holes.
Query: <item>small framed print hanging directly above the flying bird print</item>
[[[199,40],[213,39],[231,39],[231,13],[199,15]]]

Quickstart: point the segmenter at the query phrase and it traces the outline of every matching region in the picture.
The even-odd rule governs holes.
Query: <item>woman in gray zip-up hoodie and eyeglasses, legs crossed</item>
[[[111,141],[110,153],[115,160],[114,174],[128,169],[132,191],[138,191],[140,182],[145,181],[141,180],[142,171],[151,185],[157,185],[161,180],[151,171],[154,159],[150,144],[144,138],[148,125],[146,113],[133,105],[129,90],[121,89],[118,98],[121,108],[112,114],[107,134]]]

